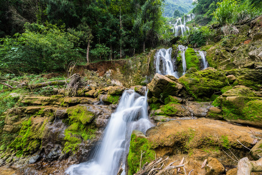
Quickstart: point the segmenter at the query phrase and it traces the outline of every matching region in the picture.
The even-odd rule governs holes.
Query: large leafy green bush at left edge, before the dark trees
[[[64,26],[26,23],[24,27],[24,33],[1,39],[1,67],[12,71],[55,71],[81,57],[75,47],[79,39],[65,32]]]

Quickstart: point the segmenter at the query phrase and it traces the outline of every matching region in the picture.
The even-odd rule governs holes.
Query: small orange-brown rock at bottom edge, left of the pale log
[[[206,166],[206,175],[220,175],[225,172],[225,167],[216,158],[209,157]]]

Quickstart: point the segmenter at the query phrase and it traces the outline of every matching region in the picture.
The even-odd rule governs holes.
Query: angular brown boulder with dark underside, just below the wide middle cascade
[[[153,96],[156,98],[161,97],[162,99],[165,99],[169,95],[179,96],[179,91],[183,88],[181,84],[158,73],[155,74],[151,83],[149,83],[147,87]]]

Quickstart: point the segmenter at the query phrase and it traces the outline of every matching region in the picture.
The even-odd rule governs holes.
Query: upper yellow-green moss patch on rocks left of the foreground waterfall
[[[69,118],[73,121],[80,121],[82,124],[91,123],[94,119],[94,114],[87,110],[87,106],[76,105],[68,108]]]

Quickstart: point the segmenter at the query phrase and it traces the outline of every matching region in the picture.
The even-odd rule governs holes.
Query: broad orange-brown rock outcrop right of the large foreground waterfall
[[[206,175],[208,172],[219,175],[225,171],[224,166],[237,165],[225,152],[237,157],[249,155],[243,145],[252,148],[254,138],[262,136],[262,130],[252,128],[252,131],[244,126],[199,118],[161,123],[148,129],[145,136],[157,157],[169,156],[170,162],[185,157],[184,167],[187,172],[194,169],[192,175]],[[205,168],[201,168],[205,159],[210,161]],[[216,160],[215,163],[213,160]]]

